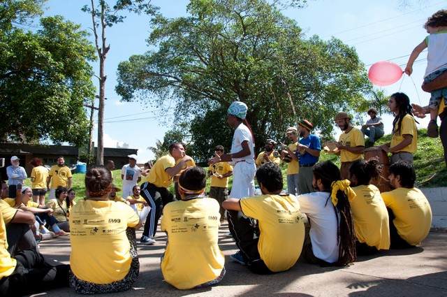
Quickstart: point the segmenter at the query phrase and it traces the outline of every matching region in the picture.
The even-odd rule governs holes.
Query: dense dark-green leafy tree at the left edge
[[[14,22],[40,10],[20,9],[16,17],[0,17],[0,136],[82,145],[88,131],[83,103],[94,96],[88,61],[95,57],[88,34],[60,16],[42,18],[35,33],[24,31]]]

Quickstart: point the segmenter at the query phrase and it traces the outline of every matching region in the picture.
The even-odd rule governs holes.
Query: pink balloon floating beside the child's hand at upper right
[[[390,61],[379,61],[369,68],[368,78],[373,85],[381,87],[393,85],[402,78],[404,71],[399,65]]]

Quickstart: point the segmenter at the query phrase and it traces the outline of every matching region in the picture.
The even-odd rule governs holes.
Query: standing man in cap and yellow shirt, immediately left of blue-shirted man
[[[288,161],[287,163],[287,192],[288,194],[296,195],[300,193],[298,189],[298,173],[300,166],[298,164],[298,157],[296,157],[296,150],[298,147],[298,130],[295,127],[290,127],[286,130],[286,136],[291,144],[285,147],[286,150],[281,151],[281,159]]]

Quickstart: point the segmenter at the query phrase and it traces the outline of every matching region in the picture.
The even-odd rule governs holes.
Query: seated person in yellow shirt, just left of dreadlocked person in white
[[[293,194],[282,191],[282,173],[276,164],[259,167],[256,180],[262,196],[223,202],[228,227],[240,249],[231,259],[253,273],[278,273],[295,265],[301,254],[305,226],[300,203]],[[258,220],[259,228],[241,219],[242,215]]]

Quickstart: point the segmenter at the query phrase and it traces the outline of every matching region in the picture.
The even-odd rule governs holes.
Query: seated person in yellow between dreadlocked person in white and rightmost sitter
[[[379,177],[379,161],[354,161],[349,168],[351,187],[356,196],[349,199],[358,255],[374,254],[380,249],[390,248],[388,211],[379,189],[371,184],[372,178]]]

